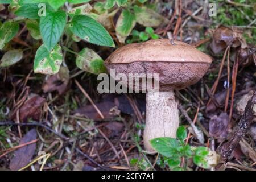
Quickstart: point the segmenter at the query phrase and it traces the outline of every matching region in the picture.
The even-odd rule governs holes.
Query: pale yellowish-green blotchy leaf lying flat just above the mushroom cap
[[[168,23],[168,19],[147,7],[134,6],[136,21],[144,27],[159,27]]]

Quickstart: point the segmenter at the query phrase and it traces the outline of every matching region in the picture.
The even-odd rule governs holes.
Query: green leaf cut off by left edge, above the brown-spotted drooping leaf
[[[9,42],[19,31],[19,24],[16,22],[7,21],[0,28],[0,50],[5,47],[5,43]]]

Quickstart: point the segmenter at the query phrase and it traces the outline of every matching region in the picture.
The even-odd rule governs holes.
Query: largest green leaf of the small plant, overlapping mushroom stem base
[[[179,147],[179,142],[170,137],[154,138],[150,143],[157,152],[166,157],[176,155],[176,148]]]

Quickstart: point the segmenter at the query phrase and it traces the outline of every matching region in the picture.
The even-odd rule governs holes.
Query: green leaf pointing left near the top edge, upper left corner
[[[38,10],[38,4],[25,4],[20,6],[19,9],[14,12],[14,14],[24,18],[38,19]]]

